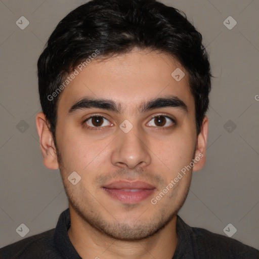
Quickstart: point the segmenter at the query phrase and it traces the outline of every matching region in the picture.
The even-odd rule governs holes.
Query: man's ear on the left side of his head
[[[53,136],[43,112],[39,112],[36,115],[36,127],[44,165],[49,169],[58,169],[59,164]]]

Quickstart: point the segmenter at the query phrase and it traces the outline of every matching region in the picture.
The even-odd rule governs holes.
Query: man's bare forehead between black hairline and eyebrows
[[[93,59],[77,72],[59,96],[58,113],[85,97],[113,100],[124,112],[132,112],[148,100],[176,96],[194,109],[188,73],[168,54],[132,51]]]

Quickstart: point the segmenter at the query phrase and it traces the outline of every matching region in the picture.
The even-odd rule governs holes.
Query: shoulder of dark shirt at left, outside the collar
[[[0,259],[6,258],[53,258],[55,254],[53,236],[55,229],[27,237],[0,249]],[[58,257],[57,257],[58,258]]]

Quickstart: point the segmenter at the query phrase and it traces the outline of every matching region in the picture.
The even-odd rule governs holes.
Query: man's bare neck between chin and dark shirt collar
[[[177,247],[175,214],[156,234],[136,241],[116,240],[85,222],[69,205],[71,226],[68,236],[82,259],[171,259]]]

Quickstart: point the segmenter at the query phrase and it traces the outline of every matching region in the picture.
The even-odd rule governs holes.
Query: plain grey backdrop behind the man
[[[183,10],[202,33],[215,76],[206,165],[194,172],[179,215],[222,235],[231,223],[232,238],[259,249],[259,1],[161,2]],[[42,164],[36,62],[57,23],[82,3],[0,1],[0,247],[22,239],[22,223],[29,228],[24,238],[55,228],[68,207],[59,171]],[[24,30],[16,25],[21,16],[30,22]],[[229,16],[237,21],[231,30],[223,24]]]

